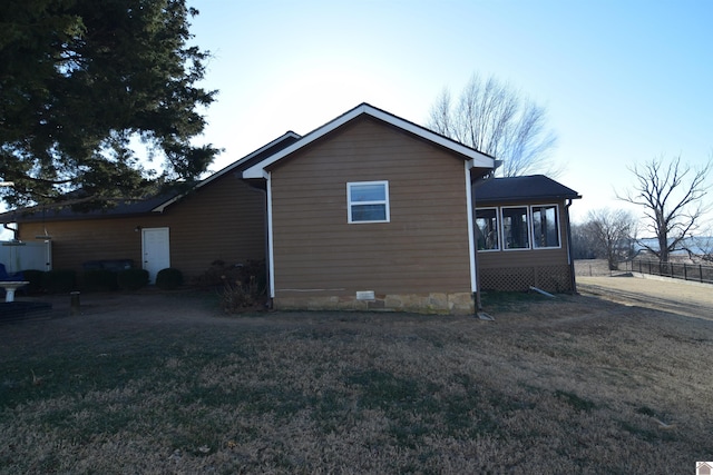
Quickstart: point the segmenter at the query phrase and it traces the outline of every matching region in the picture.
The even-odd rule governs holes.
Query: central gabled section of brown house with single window
[[[369,105],[248,167],[275,308],[472,313],[471,182],[495,160]]]

